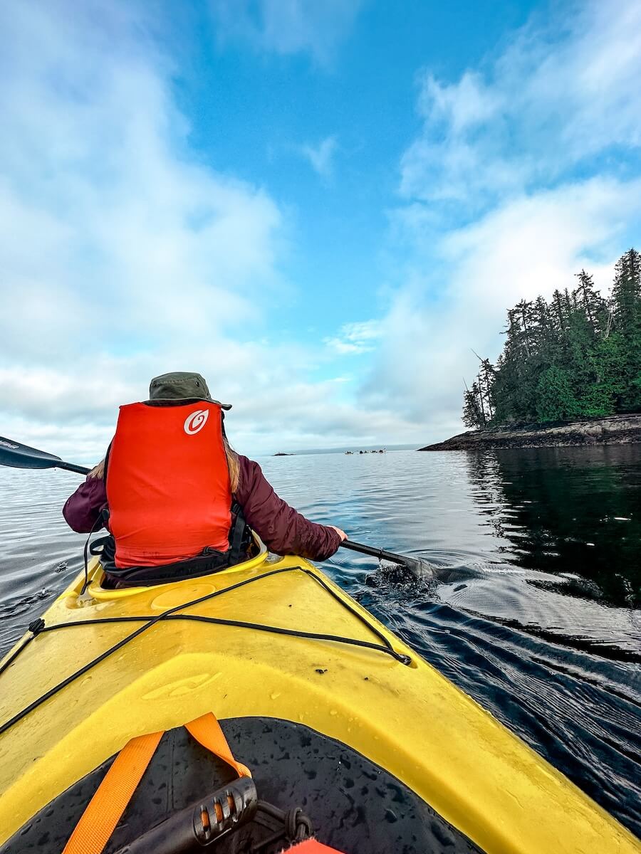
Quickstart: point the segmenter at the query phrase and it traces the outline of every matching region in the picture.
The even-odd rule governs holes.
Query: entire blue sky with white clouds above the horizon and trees
[[[5,3],[3,435],[197,370],[239,450],[462,429],[505,310],[641,219],[641,7]],[[8,132],[7,132],[8,131]]]

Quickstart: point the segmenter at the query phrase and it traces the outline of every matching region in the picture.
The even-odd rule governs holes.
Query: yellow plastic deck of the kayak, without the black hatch
[[[127,740],[213,711],[338,740],[488,854],[638,851],[632,834],[307,561],[263,550],[153,588],[105,590],[101,579],[95,561],[85,594],[79,576],[44,614],[47,628],[71,625],[38,634],[0,675],[0,724],[148,628],[0,735],[0,843]]]

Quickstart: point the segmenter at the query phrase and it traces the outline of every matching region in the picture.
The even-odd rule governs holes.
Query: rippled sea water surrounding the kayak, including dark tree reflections
[[[344,550],[326,570],[641,835],[640,446],[262,465],[316,521],[432,562],[431,583]],[[76,483],[0,469],[3,649],[81,566],[60,514]]]

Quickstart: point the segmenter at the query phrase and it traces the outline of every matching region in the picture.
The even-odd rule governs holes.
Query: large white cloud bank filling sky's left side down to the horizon
[[[29,3],[0,19],[3,432],[91,462],[118,405],[180,369],[234,404],[241,450],[390,424],[341,402],[344,383],[309,381],[322,342],[270,340],[289,287],[283,214],[190,157],[144,7]]]

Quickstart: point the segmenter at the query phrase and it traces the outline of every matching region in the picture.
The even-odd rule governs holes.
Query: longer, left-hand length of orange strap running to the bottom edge
[[[62,854],[103,851],[161,739],[162,733],[150,733],[127,741],[80,816]]]

